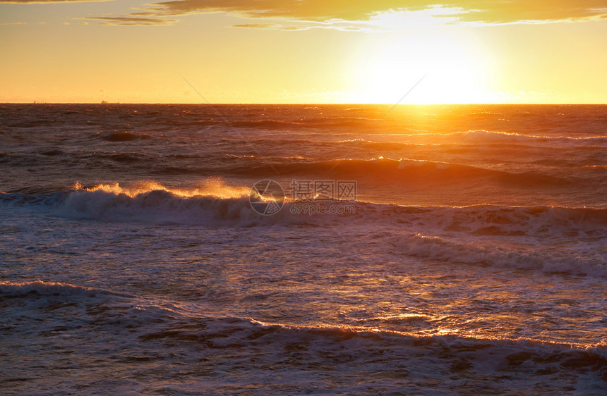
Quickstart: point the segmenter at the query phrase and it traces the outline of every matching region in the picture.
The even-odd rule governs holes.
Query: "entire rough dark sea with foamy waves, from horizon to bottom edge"
[[[0,392],[606,394],[607,106],[388,110],[0,105]]]

